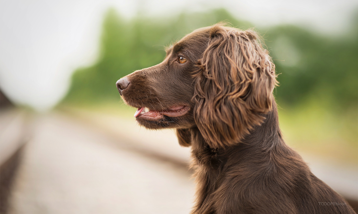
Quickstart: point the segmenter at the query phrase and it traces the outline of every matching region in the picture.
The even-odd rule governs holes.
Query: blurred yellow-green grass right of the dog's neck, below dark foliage
[[[300,106],[279,108],[286,144],[298,151],[349,165],[358,164],[357,118],[355,108],[334,113],[314,99]]]

